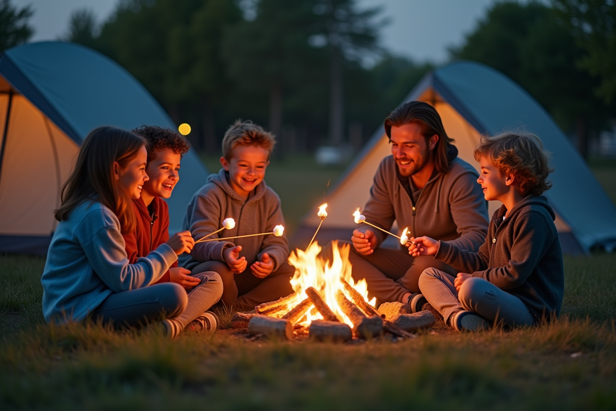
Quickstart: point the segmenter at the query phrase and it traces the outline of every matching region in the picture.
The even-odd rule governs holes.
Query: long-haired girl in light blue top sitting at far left
[[[41,277],[47,322],[81,321],[91,315],[103,323],[136,326],[161,320],[170,337],[187,322],[184,288],[176,283],[147,287],[190,253],[190,232],[169,238],[136,264],[129,264],[122,234],[136,225],[131,198],[148,180],[142,137],[112,127],[94,129],[84,140],[75,169],[62,187],[59,221]],[[222,282],[208,285],[220,298]],[[215,301],[214,301],[215,302]]]

